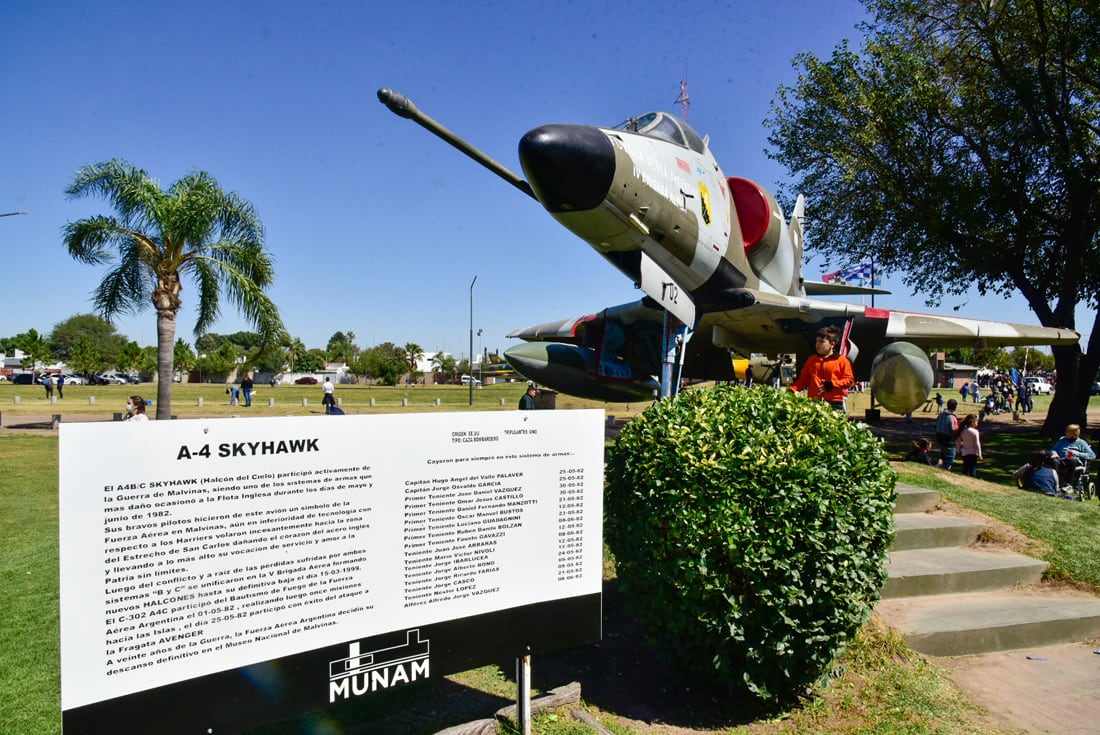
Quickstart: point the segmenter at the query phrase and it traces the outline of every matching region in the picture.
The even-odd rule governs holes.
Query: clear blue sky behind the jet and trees
[[[73,261],[66,222],[107,213],[64,189],[82,165],[125,158],[168,186],[212,174],[257,209],[290,333],[323,347],[417,342],[464,354],[513,329],[590,314],[639,293],[541,207],[415,124],[391,87],[508,168],[539,124],[612,125],[675,110],[729,176],[774,189],[776,89],[802,51],[828,56],[854,0],[636,2],[7,2],[0,6],[0,336],[91,310],[103,271]],[[811,204],[812,206],[812,204]],[[828,233],[807,231],[811,242]],[[825,266],[806,265],[818,278]],[[928,311],[887,281],[877,306]],[[178,336],[194,341],[185,285]],[[965,316],[1037,323],[1022,297],[948,297]],[[117,321],[155,343],[152,310]],[[224,305],[213,331],[248,328]]]

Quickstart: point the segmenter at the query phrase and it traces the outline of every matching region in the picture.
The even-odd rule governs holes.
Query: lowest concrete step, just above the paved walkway
[[[1100,599],[1016,589],[882,600],[875,612],[913,650],[968,656],[1100,637]]]

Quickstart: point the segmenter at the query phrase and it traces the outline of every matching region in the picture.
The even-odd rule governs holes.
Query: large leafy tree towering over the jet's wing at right
[[[814,249],[873,255],[930,305],[1019,292],[1044,326],[1075,328],[1078,304],[1100,306],[1100,7],[865,4],[862,53],[800,55],[768,121],[772,157],[833,235]],[[1098,327],[1100,310],[1086,351],[1053,349],[1045,434],[1085,424]]]

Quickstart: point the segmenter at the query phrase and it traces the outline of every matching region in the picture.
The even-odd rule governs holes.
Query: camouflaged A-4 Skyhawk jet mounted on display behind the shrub
[[[803,278],[802,197],[788,221],[770,193],[727,178],[708,139],[666,112],[616,128],[536,128],[519,141],[524,180],[406,97],[381,89],[378,99],[537,199],[646,293],[631,304],[508,334],[526,342],[505,351],[509,364],[563,393],[622,402],[651,397],[659,386],[674,390],[679,379],[732,380],[732,353],[794,353],[801,363],[813,352],[814,332],[836,325],[856,348],[849,358],[857,380],[869,379],[879,403],[906,413],[932,387],[921,347],[1079,339],[1068,329],[811,298],[873,289]]]

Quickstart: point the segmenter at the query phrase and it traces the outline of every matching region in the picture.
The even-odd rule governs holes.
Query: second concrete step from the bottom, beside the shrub
[[[882,597],[1004,590],[1035,584],[1048,564],[996,548],[891,551]]]

